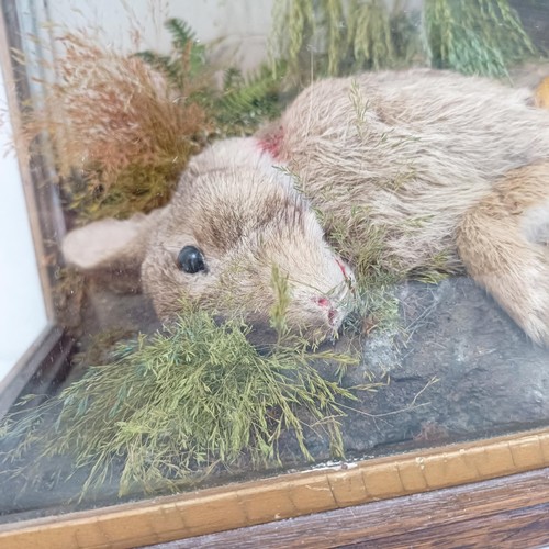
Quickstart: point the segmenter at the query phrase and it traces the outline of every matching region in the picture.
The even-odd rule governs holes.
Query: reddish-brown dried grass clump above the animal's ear
[[[127,216],[167,202],[189,156],[203,143],[206,114],[142,59],[101,46],[85,32],[59,38],[57,82],[25,115],[29,139],[54,136],[71,210]]]

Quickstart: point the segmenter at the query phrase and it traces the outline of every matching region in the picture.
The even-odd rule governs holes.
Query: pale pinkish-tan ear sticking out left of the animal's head
[[[165,209],[128,220],[107,219],[71,231],[63,242],[67,264],[85,271],[138,269]]]

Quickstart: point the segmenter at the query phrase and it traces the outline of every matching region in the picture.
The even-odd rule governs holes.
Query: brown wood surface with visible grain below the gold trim
[[[549,544],[549,469],[179,540],[154,549],[526,549],[546,544]]]

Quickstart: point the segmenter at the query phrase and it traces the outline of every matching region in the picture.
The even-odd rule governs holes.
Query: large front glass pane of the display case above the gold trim
[[[3,520],[547,426],[547,2],[2,7],[74,341]]]

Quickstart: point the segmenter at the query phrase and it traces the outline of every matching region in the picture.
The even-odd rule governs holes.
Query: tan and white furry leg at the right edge
[[[549,346],[549,161],[506,173],[457,231],[469,274],[536,343]]]

